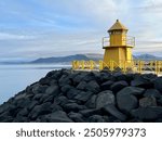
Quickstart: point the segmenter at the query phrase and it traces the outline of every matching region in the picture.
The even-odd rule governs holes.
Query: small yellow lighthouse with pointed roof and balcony
[[[132,48],[135,46],[135,38],[127,37],[127,28],[119,20],[108,30],[109,37],[103,38],[103,49],[105,49],[104,63],[108,66],[112,61],[116,67],[121,67],[123,62],[131,63]]]

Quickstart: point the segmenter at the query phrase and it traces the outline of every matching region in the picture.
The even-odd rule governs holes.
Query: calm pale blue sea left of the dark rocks
[[[44,77],[50,70],[69,67],[55,64],[0,65],[0,104]]]

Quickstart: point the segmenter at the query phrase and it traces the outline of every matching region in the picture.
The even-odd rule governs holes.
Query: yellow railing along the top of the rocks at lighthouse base
[[[162,75],[162,61],[120,61],[119,63],[114,61],[109,61],[105,63],[104,61],[73,61],[72,69],[78,70],[116,70],[120,68],[123,73],[153,73],[157,75]]]

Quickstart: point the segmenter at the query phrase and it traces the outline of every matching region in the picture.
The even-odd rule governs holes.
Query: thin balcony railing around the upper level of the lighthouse
[[[125,46],[135,47],[135,37],[127,36],[126,38],[122,38],[122,42],[125,42]],[[103,48],[110,47],[110,38],[103,38]]]

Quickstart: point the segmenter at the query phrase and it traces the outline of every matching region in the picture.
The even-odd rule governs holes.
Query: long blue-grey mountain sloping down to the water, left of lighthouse
[[[38,59],[38,60],[32,61],[30,63],[65,63],[65,62],[72,62],[73,60],[89,61],[90,59],[83,54],[76,54],[76,55],[68,55],[68,56]]]

